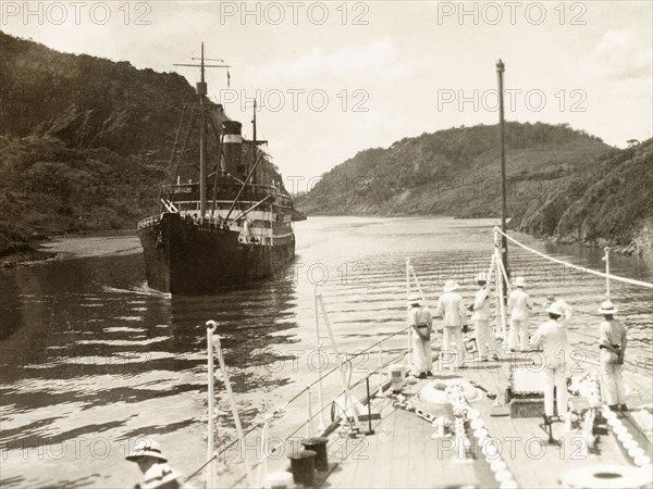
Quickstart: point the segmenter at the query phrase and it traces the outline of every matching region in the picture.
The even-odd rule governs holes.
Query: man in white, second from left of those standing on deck
[[[465,359],[463,326],[465,325],[467,312],[463,297],[455,292],[457,288],[458,284],[455,280],[447,280],[444,284],[444,293],[440,296],[438,308],[435,309],[435,316],[443,317],[442,365],[452,369],[454,368],[454,364],[459,368]],[[452,341],[456,343],[456,353],[451,348]],[[452,359],[454,354],[455,359]]]

